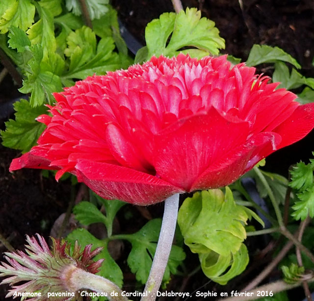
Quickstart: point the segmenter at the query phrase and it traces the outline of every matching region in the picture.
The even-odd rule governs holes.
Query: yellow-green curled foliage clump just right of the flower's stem
[[[219,189],[196,192],[182,204],[178,224],[184,242],[199,255],[203,272],[215,282],[226,284],[248,264],[242,243],[247,219],[228,187],[225,195]]]

